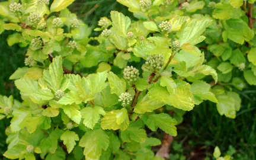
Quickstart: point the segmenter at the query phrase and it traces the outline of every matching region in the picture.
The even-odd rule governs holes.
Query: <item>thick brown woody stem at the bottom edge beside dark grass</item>
[[[161,148],[156,152],[156,156],[160,156],[162,158],[169,159],[169,148],[173,141],[173,137],[164,133],[164,139],[162,140]]]

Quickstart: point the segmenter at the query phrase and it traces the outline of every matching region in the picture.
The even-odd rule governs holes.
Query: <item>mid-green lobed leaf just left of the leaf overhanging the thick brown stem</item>
[[[126,130],[120,130],[121,140],[123,142],[132,142],[132,140],[139,143],[145,142],[146,131],[145,129],[140,129],[140,127],[136,122],[133,122]]]

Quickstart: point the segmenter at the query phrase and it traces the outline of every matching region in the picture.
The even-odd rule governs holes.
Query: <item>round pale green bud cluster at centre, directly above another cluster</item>
[[[133,66],[127,66],[124,69],[123,77],[126,79],[130,84],[133,84],[137,81],[137,77],[139,76],[139,70],[134,68]]]

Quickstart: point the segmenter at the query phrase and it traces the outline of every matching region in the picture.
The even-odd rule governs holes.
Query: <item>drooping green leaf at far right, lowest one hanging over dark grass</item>
[[[220,115],[225,115],[228,118],[235,119],[236,110],[235,110],[235,100],[233,97],[227,94],[216,95],[216,98],[219,103],[217,103],[217,111]]]

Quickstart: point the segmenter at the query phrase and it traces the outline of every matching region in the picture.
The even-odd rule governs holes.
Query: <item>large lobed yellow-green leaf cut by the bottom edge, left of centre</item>
[[[90,130],[82,136],[79,146],[84,147],[86,159],[100,159],[102,151],[106,151],[110,141],[102,129]]]

